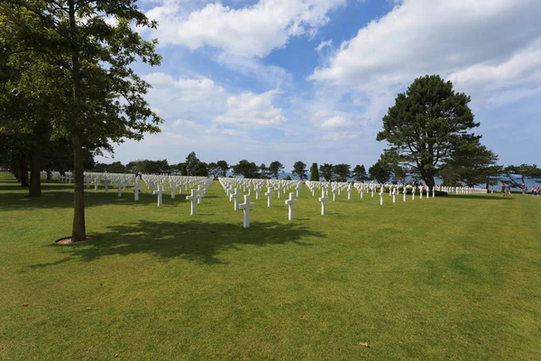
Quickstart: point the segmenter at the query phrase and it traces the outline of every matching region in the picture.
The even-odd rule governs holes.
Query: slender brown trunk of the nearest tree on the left
[[[73,135],[73,229],[71,230],[71,240],[73,242],[82,241],[87,236],[85,225],[85,175],[83,166],[83,146],[79,134]]]

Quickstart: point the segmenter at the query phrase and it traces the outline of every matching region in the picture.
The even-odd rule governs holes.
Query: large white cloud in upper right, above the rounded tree
[[[476,64],[498,68],[540,38],[540,17],[539,1],[404,0],[344,42],[310,79],[375,90]],[[533,63],[541,65],[538,57]],[[484,79],[490,81],[491,71]]]

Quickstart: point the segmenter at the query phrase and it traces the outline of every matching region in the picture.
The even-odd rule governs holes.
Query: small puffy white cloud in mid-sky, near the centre
[[[280,91],[273,89],[262,94],[243,93],[227,98],[224,116],[215,116],[213,122],[234,126],[276,126],[287,121],[282,109],[272,104]]]

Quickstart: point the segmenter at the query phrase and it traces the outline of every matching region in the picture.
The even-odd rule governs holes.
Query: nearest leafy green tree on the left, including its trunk
[[[160,131],[160,117],[143,98],[150,86],[131,68],[137,60],[160,64],[157,42],[144,41],[133,29],[157,24],[134,0],[5,0],[0,3],[0,23],[0,38],[10,47],[7,61],[31,53],[41,65],[42,71],[21,90],[49,100],[54,131],[71,142],[71,238],[84,240],[85,144],[140,140],[145,132]]]

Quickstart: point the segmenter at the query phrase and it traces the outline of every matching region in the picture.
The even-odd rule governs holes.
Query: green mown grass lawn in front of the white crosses
[[[304,187],[244,229],[217,181],[193,217],[91,188],[99,238],[55,245],[71,189],[43,189],[0,173],[0,360],[541,359],[541,198],[343,193],[322,217]]]

